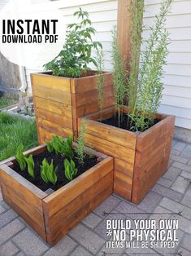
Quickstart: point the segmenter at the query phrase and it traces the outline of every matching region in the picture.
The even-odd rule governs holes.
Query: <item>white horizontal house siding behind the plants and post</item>
[[[161,0],[145,0],[144,24],[150,26],[158,13]],[[93,27],[97,29],[95,39],[102,42],[105,51],[105,68],[111,69],[111,30],[117,24],[117,0],[72,0],[58,1],[67,24],[74,22],[73,13],[82,7],[89,11]],[[176,126],[191,129],[191,0],[174,0],[167,17],[170,33],[170,54],[164,68],[165,90],[159,111],[176,115]],[[150,30],[144,29],[143,38]],[[144,51],[144,46],[142,47]],[[29,73],[27,78],[29,84]]]

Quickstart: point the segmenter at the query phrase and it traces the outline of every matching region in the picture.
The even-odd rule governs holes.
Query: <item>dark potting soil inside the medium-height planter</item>
[[[160,121],[160,119],[155,118],[154,123],[152,125],[150,124],[150,126],[147,129],[154,126],[159,121]],[[117,128],[121,128],[121,129],[124,129],[124,130],[136,131],[136,130],[131,129],[133,127],[133,121],[131,120],[130,117],[128,117],[127,114],[123,114],[123,116],[120,117],[120,122],[119,122],[118,115],[116,115],[116,116],[111,117],[109,119],[102,120],[102,123],[106,124],[108,126],[115,126]]]

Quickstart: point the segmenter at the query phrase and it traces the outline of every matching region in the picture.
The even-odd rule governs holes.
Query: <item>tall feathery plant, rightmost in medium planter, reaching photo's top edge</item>
[[[154,124],[160,101],[163,96],[163,65],[167,64],[168,33],[164,28],[167,13],[172,0],[165,0],[156,15],[155,24],[151,29],[150,38],[147,40],[146,50],[141,55],[142,65],[139,71],[137,88],[136,113],[130,115],[134,122],[133,130],[144,131],[148,124]]]

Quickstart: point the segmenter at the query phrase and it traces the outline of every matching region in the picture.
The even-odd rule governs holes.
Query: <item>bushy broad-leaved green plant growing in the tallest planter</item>
[[[87,11],[76,11],[74,15],[79,23],[67,26],[66,42],[59,55],[48,64],[44,65],[46,70],[52,70],[54,76],[80,77],[82,73],[89,70],[88,65],[96,60],[92,57],[92,50],[102,48],[100,42],[93,42],[96,30],[91,26]]]

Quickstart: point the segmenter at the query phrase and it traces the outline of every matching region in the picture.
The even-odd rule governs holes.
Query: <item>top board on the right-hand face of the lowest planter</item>
[[[107,157],[84,174],[81,174],[79,177],[72,180],[72,182],[67,183],[63,188],[60,188],[52,195],[47,196],[45,200],[43,200],[46,203],[47,212],[45,214],[52,216],[63,209],[64,205],[67,205],[80,193],[85,192],[85,190],[90,188],[93,183],[98,182],[102,177],[106,176],[106,174],[110,173],[111,170],[113,170],[113,166],[113,158]]]

